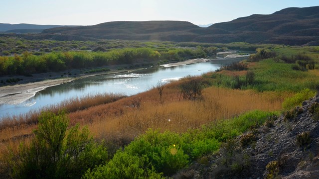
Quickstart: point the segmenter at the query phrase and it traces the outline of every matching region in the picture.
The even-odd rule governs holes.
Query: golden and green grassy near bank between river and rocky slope
[[[129,175],[125,171],[143,178],[170,176],[216,152],[250,126],[262,125],[270,116],[312,97],[319,87],[317,49],[267,45],[242,62],[245,70],[233,65],[227,71],[187,77],[165,85],[161,97],[154,88],[129,97],[73,99],[50,110],[57,114],[66,108],[70,126],[87,125],[94,140],[107,148],[105,165],[87,171],[84,178],[120,174],[125,178]],[[181,87],[192,80],[204,84],[200,98],[181,98]],[[20,142],[33,145],[32,130],[38,128],[39,115],[1,122],[1,173],[10,169],[10,151],[20,155]]]

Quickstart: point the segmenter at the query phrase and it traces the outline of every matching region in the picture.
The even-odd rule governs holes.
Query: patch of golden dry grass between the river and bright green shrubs
[[[153,93],[153,97],[159,95],[155,90],[149,93]],[[173,93],[178,96],[178,91]],[[163,94],[165,98],[163,104],[159,99],[142,98],[141,108],[126,106],[121,108],[123,112],[121,115],[107,114],[96,120],[92,119],[95,122],[89,125],[89,129],[97,139],[107,140],[116,140],[114,138],[132,140],[148,128],[185,132],[189,128],[198,128],[216,119],[231,118],[249,110],[280,110],[284,98],[288,95],[215,87],[205,89],[204,99],[197,101],[179,101],[178,97],[166,98]]]

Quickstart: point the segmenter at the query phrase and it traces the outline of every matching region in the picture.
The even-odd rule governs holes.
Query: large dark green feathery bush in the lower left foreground
[[[89,137],[87,127],[68,128],[64,112],[44,112],[30,146],[23,144],[15,156],[11,153],[11,177],[19,179],[80,178],[84,172],[107,160],[107,151]]]

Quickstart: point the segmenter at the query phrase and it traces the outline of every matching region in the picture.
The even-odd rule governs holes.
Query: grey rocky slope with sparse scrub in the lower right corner
[[[228,141],[218,154],[174,177],[319,179],[319,96]]]

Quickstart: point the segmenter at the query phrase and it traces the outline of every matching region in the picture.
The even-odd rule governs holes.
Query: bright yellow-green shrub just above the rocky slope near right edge
[[[293,107],[301,105],[304,100],[315,96],[315,92],[310,89],[303,89],[292,97],[287,97],[282,103],[283,109],[290,110]]]

